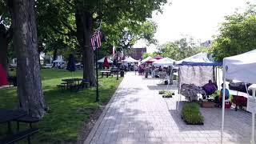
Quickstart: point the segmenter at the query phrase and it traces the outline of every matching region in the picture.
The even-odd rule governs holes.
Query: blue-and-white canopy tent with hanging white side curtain
[[[178,87],[179,94],[182,84],[194,84],[203,86],[209,80],[216,80],[216,66],[222,66],[222,62],[216,62],[212,56],[207,53],[198,53],[189,58],[184,58],[174,62],[178,66]],[[181,94],[180,94],[181,101]]]

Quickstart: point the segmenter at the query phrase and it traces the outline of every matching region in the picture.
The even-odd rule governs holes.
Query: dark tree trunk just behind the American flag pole
[[[77,38],[82,49],[83,78],[90,82],[91,86],[96,86],[94,70],[94,50],[90,44],[90,34],[92,30],[93,18],[90,11],[82,8],[76,3],[75,11]]]

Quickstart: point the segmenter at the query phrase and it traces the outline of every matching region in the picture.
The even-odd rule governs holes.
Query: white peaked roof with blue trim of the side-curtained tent
[[[189,58],[177,61],[175,64],[189,66],[222,66],[222,62],[214,61],[211,55],[207,53],[195,54]]]

